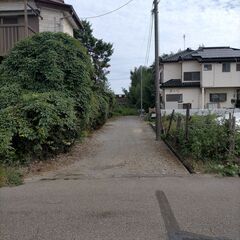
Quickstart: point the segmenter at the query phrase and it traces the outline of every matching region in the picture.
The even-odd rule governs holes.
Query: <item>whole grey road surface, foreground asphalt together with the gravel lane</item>
[[[77,157],[0,189],[1,240],[240,239],[239,179],[189,175],[137,118],[110,121]]]

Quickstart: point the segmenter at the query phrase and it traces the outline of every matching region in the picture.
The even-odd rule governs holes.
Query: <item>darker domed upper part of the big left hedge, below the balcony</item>
[[[45,32],[17,43],[4,59],[1,72],[1,85],[64,92],[75,99],[79,117],[88,118],[93,68],[86,49],[69,35]]]

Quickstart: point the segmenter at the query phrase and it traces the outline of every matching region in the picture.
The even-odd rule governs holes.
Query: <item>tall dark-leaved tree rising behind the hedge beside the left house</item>
[[[87,48],[92,58],[96,83],[106,87],[110,57],[113,54],[113,44],[94,37],[92,26],[88,21],[83,20],[82,25],[83,29],[75,30],[74,36]]]

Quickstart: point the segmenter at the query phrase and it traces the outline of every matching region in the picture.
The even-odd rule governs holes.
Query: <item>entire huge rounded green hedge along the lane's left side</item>
[[[25,163],[65,151],[97,128],[114,102],[93,86],[86,49],[63,33],[19,42],[0,66],[0,163]]]

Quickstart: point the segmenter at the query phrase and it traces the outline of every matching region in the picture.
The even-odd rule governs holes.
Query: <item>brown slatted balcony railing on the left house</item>
[[[34,30],[28,27],[28,36],[33,34],[35,34]],[[6,55],[18,41],[25,37],[25,25],[0,25],[0,56]]]

